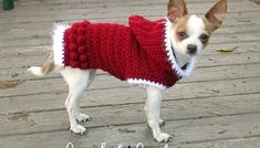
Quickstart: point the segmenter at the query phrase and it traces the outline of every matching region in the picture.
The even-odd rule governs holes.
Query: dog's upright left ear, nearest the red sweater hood
[[[181,18],[188,13],[184,0],[169,0],[168,2],[168,19],[173,22],[177,18]]]

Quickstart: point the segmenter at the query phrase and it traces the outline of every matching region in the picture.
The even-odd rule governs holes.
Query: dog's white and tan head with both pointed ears
[[[183,56],[195,56],[208,44],[227,13],[227,0],[218,1],[204,17],[188,15],[184,0],[169,0],[168,19],[173,22],[171,43]]]

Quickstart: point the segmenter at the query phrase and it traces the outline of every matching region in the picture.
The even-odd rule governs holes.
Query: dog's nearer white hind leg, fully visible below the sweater
[[[65,107],[69,114],[71,130],[76,134],[85,133],[85,127],[76,123],[77,106],[80,97],[85,91],[90,77],[90,71],[82,71],[79,68],[65,67],[61,71],[64,80],[66,81],[70,92],[65,102]],[[85,115],[86,116],[86,115]],[[89,117],[89,116],[87,116]]]

